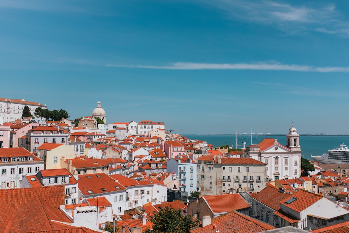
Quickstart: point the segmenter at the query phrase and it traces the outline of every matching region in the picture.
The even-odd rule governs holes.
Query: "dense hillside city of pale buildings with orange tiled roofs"
[[[41,123],[19,115],[43,105],[2,103],[1,232],[104,232],[113,221],[118,232],[145,232],[165,206],[200,220],[190,232],[224,231],[231,219],[239,232],[349,225],[349,165],[312,161],[304,175],[293,124],[286,145],[266,138],[233,150],[172,133],[161,119],[108,123],[100,101],[92,116]],[[24,226],[29,213],[41,217]]]

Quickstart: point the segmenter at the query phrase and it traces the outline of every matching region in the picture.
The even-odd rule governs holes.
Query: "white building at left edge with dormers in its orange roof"
[[[44,160],[20,148],[0,148],[1,189],[21,188],[22,177],[44,169]]]

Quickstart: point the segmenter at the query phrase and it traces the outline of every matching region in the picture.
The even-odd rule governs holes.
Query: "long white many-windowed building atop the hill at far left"
[[[37,102],[30,102],[21,99],[11,100],[7,98],[0,98],[0,118],[3,122],[15,121],[22,119],[24,106],[27,105],[30,109],[31,115],[34,116],[35,109],[40,107],[46,109],[47,106]]]

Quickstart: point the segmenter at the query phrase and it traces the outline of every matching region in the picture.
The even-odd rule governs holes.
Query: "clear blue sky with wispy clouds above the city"
[[[0,1],[1,96],[182,133],[348,133],[347,1]],[[262,132],[263,130],[261,130]]]

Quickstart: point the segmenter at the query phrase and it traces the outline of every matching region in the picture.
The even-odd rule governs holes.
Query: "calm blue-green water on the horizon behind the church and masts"
[[[224,145],[227,140],[227,145],[236,148],[235,135],[197,135],[197,134],[183,134],[183,136],[190,139],[206,140],[207,143],[214,145],[215,147]],[[257,139],[255,139],[257,138]],[[265,135],[261,135],[260,139],[265,138]],[[268,138],[277,138],[278,142],[282,145],[286,145],[286,136],[268,136]],[[238,135],[238,148],[242,148],[242,136]],[[244,141],[246,146],[251,144],[251,135],[245,135]],[[260,140],[261,141],[261,140]],[[302,155],[304,158],[310,159],[310,155],[322,155],[328,152],[330,149],[337,148],[339,144],[349,145],[349,136],[300,136],[299,144],[302,148]],[[252,135],[252,144],[258,144],[258,135]]]

